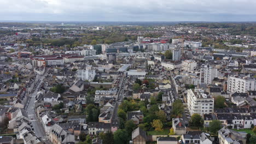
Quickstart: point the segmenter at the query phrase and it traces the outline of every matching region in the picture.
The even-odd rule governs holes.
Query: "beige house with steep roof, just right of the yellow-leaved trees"
[[[172,128],[176,135],[185,134],[187,129],[182,118],[172,118]]]

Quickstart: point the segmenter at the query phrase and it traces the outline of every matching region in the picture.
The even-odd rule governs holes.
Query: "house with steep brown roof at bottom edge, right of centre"
[[[132,143],[133,144],[146,144],[147,135],[141,128],[137,128],[132,131]]]

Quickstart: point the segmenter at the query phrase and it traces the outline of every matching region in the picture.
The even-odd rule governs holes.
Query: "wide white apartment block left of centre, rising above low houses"
[[[94,80],[95,70],[77,70],[76,77],[80,80]]]

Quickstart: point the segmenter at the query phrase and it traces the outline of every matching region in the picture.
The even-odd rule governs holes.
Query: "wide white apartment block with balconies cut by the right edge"
[[[250,75],[229,75],[227,91],[230,93],[256,91],[256,78]]]

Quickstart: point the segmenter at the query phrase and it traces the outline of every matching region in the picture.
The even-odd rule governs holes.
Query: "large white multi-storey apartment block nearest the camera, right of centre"
[[[211,95],[207,95],[202,89],[188,89],[187,94],[188,109],[191,115],[197,113],[199,115],[213,113],[214,99]]]

